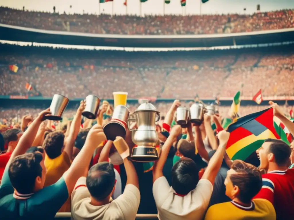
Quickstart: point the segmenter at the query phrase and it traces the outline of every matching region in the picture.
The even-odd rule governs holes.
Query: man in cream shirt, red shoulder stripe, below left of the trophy
[[[123,194],[112,200],[115,190],[115,171],[109,162],[97,163],[81,177],[71,196],[73,219],[133,220],[140,204],[140,192],[136,170],[128,160],[123,160],[127,182]]]

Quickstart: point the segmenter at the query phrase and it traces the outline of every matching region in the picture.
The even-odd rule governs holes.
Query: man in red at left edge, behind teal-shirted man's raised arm
[[[14,148],[19,142],[19,138],[22,136],[22,131],[20,129],[12,128],[3,133],[4,143],[7,145],[6,153],[0,155],[0,180],[4,173],[6,164],[14,151]]]

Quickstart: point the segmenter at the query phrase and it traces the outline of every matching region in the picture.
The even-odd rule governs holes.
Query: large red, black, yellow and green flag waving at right
[[[226,152],[229,158],[245,160],[260,148],[265,139],[280,139],[274,128],[273,116],[273,108],[269,108],[239,118],[228,126],[230,138]]]

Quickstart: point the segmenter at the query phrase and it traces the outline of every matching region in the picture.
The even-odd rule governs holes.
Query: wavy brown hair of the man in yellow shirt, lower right
[[[229,178],[234,186],[239,187],[238,199],[243,203],[249,203],[262,187],[260,170],[242,160],[234,160],[231,169],[236,171]]]

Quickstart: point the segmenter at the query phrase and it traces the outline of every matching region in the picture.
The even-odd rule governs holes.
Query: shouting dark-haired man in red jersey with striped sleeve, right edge
[[[273,203],[277,219],[294,216],[294,169],[288,169],[291,148],[282,140],[266,139],[257,150],[263,186],[255,198],[267,199]]]

